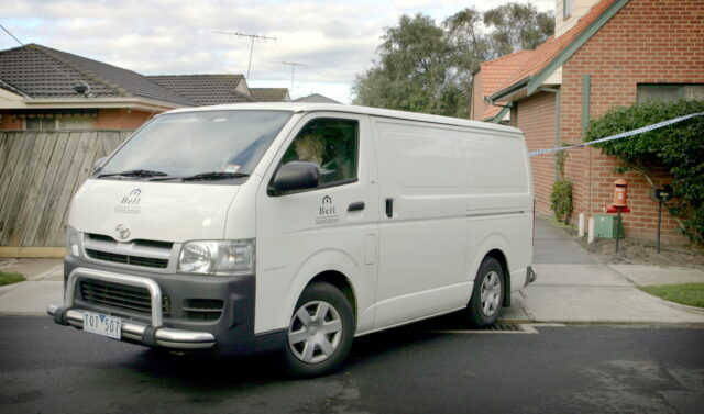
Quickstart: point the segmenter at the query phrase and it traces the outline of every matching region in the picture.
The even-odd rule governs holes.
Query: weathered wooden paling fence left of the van
[[[0,246],[64,246],[72,197],[130,134],[0,131]]]

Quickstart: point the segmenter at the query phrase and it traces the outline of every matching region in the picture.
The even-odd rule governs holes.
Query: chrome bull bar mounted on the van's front
[[[70,272],[64,292],[64,305],[50,304],[46,313],[54,316],[61,325],[84,327],[85,310],[75,307],[75,295],[78,280],[89,278],[113,283],[145,288],[152,301],[152,323],[144,325],[133,321],[123,321],[121,337],[138,340],[148,346],[162,346],[175,349],[207,349],[216,345],[216,338],[207,332],[182,331],[163,327],[162,290],[158,284],[147,278],[112,273],[102,270],[77,268]]]

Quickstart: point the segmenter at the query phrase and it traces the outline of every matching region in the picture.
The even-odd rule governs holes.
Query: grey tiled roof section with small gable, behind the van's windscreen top
[[[255,102],[237,90],[244,81],[242,75],[158,75],[147,76],[152,81],[168,88],[198,105]]]

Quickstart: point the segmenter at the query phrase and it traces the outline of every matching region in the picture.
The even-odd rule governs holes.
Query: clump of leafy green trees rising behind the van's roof
[[[553,26],[550,13],[518,3],[484,14],[463,9],[440,25],[424,14],[402,15],[385,29],[373,67],[356,76],[353,103],[466,118],[480,64],[519,47],[535,48]]]

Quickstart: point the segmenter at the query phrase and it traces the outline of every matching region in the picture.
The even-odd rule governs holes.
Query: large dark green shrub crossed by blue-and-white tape
[[[700,112],[704,112],[704,100],[650,101],[615,108],[590,123],[585,141]],[[622,172],[647,174],[653,167],[664,167],[673,177],[671,186],[676,198],[668,203],[670,214],[682,220],[692,243],[704,242],[704,116],[595,146],[618,157]]]

